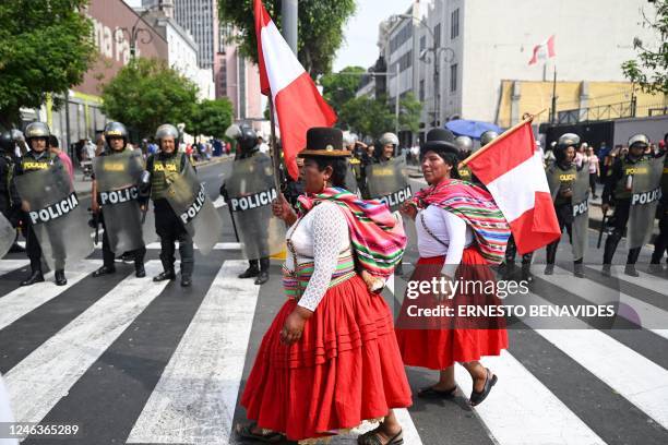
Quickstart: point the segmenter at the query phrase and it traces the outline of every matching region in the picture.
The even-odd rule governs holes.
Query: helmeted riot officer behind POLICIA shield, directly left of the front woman
[[[236,137],[237,140],[237,154],[235,156],[235,163],[242,159],[249,159],[255,156],[265,156],[260,152],[260,146],[258,145],[258,134],[252,128],[248,125],[239,127],[238,132],[234,135],[234,137]],[[223,197],[229,202],[226,183],[223,183],[223,185],[220,187],[220,195],[223,195]],[[258,225],[266,224],[266,221],[254,222],[257,222]],[[260,227],[247,229],[248,232],[264,232],[264,230],[260,230]],[[258,239],[254,240],[254,243],[257,244],[255,246],[258,246],[258,252],[269,252],[269,244],[265,241],[266,240],[262,239],[262,236],[258,237]],[[255,278],[255,285],[263,285],[269,281],[269,256],[251,256],[248,263],[248,268],[239,275],[239,278]]]

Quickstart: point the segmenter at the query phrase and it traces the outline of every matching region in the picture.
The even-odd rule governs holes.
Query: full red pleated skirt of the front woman
[[[411,405],[392,313],[359,276],[332,287],[290,346],[288,300],[262,339],[241,405],[258,425],[300,441],[335,434]]]

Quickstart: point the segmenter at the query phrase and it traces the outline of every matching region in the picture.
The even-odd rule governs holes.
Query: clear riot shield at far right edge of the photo
[[[627,249],[640,248],[649,241],[654,215],[661,197],[664,158],[644,159],[635,165],[629,211]]]

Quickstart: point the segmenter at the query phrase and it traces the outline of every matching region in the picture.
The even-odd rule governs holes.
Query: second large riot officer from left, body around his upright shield
[[[128,145],[128,130],[126,129],[126,127],[120,123],[120,122],[109,122],[107,123],[107,125],[105,127],[105,132],[104,132],[105,139],[107,140],[107,145],[109,145],[108,149],[105,149],[103,153],[99,154],[99,157],[107,157],[107,156],[118,156],[121,153],[126,152],[127,145]],[[110,137],[122,137],[123,139],[123,149],[121,151],[115,151],[114,148],[111,148],[111,144],[109,143],[109,139]],[[123,168],[127,166],[122,166]],[[117,170],[118,171],[118,170]],[[119,173],[122,173],[123,171],[119,171]],[[93,176],[93,180],[95,180],[95,176]],[[99,193],[99,190],[97,191]],[[97,197],[96,197],[97,199]],[[99,203],[100,200],[97,199],[97,202]],[[97,216],[97,220],[98,222],[102,222],[104,232],[103,232],[103,266],[100,268],[98,268],[97,270],[95,270],[93,273],[93,277],[99,277],[103,275],[107,275],[107,274],[114,274],[116,272],[116,252],[111,251],[111,245],[109,243],[109,237],[108,237],[108,230],[107,230],[107,226],[105,224],[105,218],[104,215],[100,212],[98,213]],[[146,248],[142,246],[140,249],[136,249],[134,251],[130,251],[130,252],[124,252],[123,256],[131,256],[134,258],[134,274],[138,278],[143,278],[146,276],[146,270],[144,269],[144,257],[146,256]]]

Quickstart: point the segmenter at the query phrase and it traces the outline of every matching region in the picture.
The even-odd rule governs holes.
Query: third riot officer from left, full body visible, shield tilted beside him
[[[179,131],[176,127],[169,123],[158,127],[155,140],[160,151],[146,160],[146,171],[151,173],[151,181],[150,187],[142,192],[144,196],[151,196],[153,200],[155,231],[160,238],[160,262],[164,270],[153,280],[157,282],[176,279],[175,243],[178,241],[181,255],[181,286],[189,287],[192,285],[194,268],[192,237],[167,201],[167,190],[172,178],[180,175],[189,166],[189,161],[184,153],[178,152]],[[146,204],[145,197],[142,205],[144,212]]]

